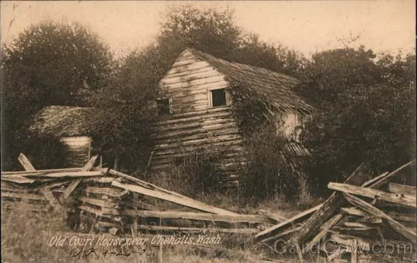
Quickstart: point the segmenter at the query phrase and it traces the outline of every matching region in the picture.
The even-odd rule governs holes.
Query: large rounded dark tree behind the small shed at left
[[[24,30],[10,45],[3,45],[3,164],[29,147],[27,128],[35,112],[53,104],[87,105],[89,95],[106,83],[112,62],[108,47],[80,24],[41,22]]]

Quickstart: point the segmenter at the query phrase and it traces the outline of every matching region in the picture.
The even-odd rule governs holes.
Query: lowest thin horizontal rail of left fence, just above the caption
[[[256,228],[181,228],[160,225],[138,225],[141,230],[155,230],[166,232],[188,232],[201,234],[230,233],[230,234],[255,234],[259,232]]]

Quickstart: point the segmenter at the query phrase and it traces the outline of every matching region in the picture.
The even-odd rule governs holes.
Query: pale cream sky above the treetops
[[[198,8],[232,8],[235,22],[266,42],[305,56],[325,49],[364,45],[395,54],[414,51],[416,5],[391,1],[175,1]],[[1,1],[1,42],[30,24],[49,19],[80,22],[99,34],[116,56],[145,47],[158,33],[168,1]],[[355,41],[351,42],[351,40]]]

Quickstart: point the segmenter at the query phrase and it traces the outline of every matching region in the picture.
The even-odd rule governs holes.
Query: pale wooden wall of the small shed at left
[[[71,136],[60,138],[67,147],[67,166],[83,167],[90,159],[91,138],[88,136]]]

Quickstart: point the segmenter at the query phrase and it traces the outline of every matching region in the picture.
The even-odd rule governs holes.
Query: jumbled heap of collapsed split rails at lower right
[[[343,184],[329,183],[334,193],[325,202],[254,237],[275,252],[295,246],[300,261],[416,262],[416,187],[389,182],[415,162],[372,179],[362,164]]]

